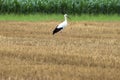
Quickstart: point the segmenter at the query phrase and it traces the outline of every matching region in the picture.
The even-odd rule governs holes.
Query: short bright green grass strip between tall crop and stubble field
[[[69,15],[69,21],[120,21],[119,15]],[[2,14],[0,21],[62,21],[61,14]]]

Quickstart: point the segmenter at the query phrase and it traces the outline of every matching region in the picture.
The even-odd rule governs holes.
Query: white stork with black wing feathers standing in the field
[[[64,29],[67,26],[67,17],[68,17],[68,15],[64,14],[64,19],[65,20],[62,23],[60,23],[59,25],[56,26],[56,28],[53,30],[53,35],[56,34],[59,31],[61,31],[62,29]]]

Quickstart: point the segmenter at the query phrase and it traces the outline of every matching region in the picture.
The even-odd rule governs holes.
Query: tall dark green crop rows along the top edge
[[[0,13],[120,14],[120,0],[0,0]]]

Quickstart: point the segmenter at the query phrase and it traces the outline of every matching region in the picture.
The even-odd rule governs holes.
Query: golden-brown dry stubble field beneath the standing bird
[[[120,80],[120,23],[0,22],[2,80]]]

